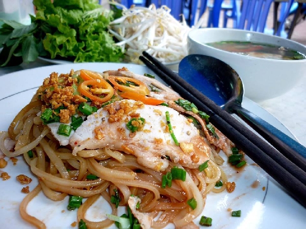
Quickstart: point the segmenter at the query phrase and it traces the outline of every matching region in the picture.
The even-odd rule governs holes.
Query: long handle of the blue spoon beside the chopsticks
[[[233,105],[231,108],[238,117],[265,138],[275,149],[301,168],[303,167],[304,171],[306,170],[304,168],[304,162],[306,161],[306,148],[304,146],[240,105]],[[293,150],[299,155],[291,153]]]

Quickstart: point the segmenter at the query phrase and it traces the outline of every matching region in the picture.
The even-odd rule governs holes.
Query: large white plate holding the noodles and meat
[[[84,63],[40,67],[0,76],[0,107],[2,107],[0,109],[2,120],[0,130],[8,129],[16,113],[29,103],[37,88],[42,84],[43,79],[53,71],[58,73],[68,73],[71,69],[105,71],[115,70],[123,66],[135,73],[154,74],[146,67],[139,65]],[[291,135],[281,123],[256,103],[245,98],[243,106]],[[234,192],[227,193],[225,191],[208,195],[203,215],[213,218],[211,228],[288,228],[288,226],[305,228],[306,209],[286,194],[261,168],[252,165],[249,158],[246,160],[248,165],[239,174],[230,167],[224,166],[228,180],[236,182],[237,186]],[[25,194],[21,193],[20,190],[23,186],[16,181],[15,177],[19,174],[31,177],[33,181],[29,185],[30,190],[33,190],[37,185],[36,178],[31,174],[22,157],[18,157],[15,166],[9,160],[8,166],[0,169],[1,173],[3,171],[7,171],[11,179],[0,180],[0,219],[2,219],[0,227],[34,228],[19,216],[19,203]],[[76,212],[67,211],[67,203],[67,198],[62,202],[53,202],[40,193],[30,203],[28,212],[43,220],[47,228],[71,228],[70,224],[76,220]],[[231,217],[228,209],[242,210],[242,216]],[[105,213],[108,213],[108,211],[108,204],[100,199],[99,203],[96,203],[88,212],[87,217],[88,219],[98,220],[105,217]],[[198,223],[198,219],[195,219],[195,222]],[[112,228],[115,228],[115,226]],[[169,225],[167,228],[174,227]]]

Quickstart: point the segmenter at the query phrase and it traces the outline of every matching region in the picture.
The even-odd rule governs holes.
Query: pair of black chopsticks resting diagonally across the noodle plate
[[[210,116],[210,122],[256,162],[302,206],[306,207],[306,163],[294,163],[178,74],[147,52],[139,59],[184,99]],[[295,152],[296,153],[296,152]],[[297,154],[297,153],[296,153]],[[298,157],[297,157],[298,158]],[[298,164],[298,165],[297,165]]]

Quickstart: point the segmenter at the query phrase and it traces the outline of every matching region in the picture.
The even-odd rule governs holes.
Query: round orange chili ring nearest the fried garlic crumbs
[[[111,84],[104,79],[86,80],[79,85],[78,91],[89,99],[99,102],[106,102],[114,95]]]

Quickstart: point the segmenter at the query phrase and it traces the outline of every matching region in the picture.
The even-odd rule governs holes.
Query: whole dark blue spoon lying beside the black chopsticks
[[[191,54],[180,62],[179,75],[224,110],[239,116],[284,156],[304,167],[304,146],[241,106],[243,84],[231,66],[211,56]],[[292,153],[292,149],[298,154]]]

